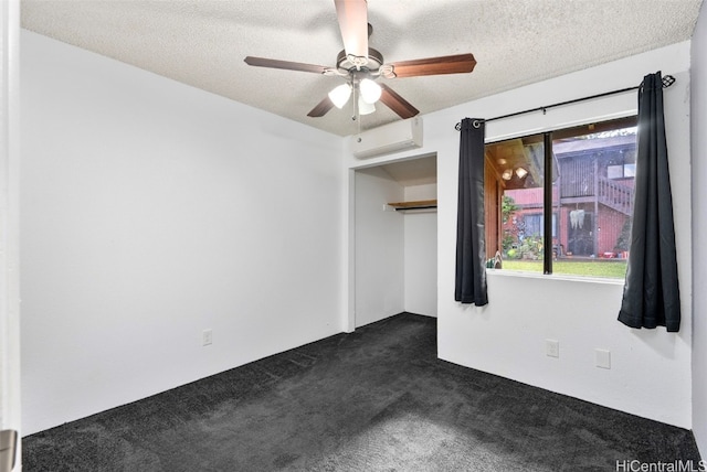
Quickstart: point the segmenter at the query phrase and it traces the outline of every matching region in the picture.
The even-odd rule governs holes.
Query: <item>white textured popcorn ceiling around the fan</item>
[[[701,0],[369,0],[386,62],[473,53],[471,74],[384,79],[424,115],[688,40]],[[247,66],[246,55],[335,66],[333,0],[22,0],[23,28],[346,136],[351,112],[307,112],[339,77]],[[383,81],[383,79],[381,79]],[[399,119],[383,105],[371,128]]]

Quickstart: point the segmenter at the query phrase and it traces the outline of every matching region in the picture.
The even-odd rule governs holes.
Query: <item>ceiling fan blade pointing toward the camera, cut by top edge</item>
[[[334,0],[344,50],[354,65],[368,63],[368,6],[366,0]],[[360,62],[360,63],[359,63]]]

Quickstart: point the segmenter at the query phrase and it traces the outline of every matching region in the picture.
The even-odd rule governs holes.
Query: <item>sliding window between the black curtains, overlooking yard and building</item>
[[[635,155],[635,117],[486,144],[487,256],[500,251],[504,270],[623,278]]]

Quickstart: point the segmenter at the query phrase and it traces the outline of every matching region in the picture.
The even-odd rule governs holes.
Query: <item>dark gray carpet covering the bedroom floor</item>
[[[402,313],[27,437],[24,470],[698,466],[690,431],[439,361],[435,339]]]

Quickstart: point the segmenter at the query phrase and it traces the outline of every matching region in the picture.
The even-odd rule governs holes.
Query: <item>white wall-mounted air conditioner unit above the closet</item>
[[[422,118],[415,117],[369,129],[350,138],[357,158],[372,158],[422,147]]]

